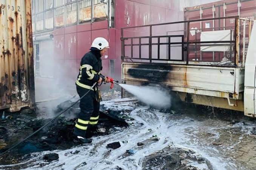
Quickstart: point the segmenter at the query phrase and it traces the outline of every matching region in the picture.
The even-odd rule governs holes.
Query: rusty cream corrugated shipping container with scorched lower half
[[[31,0],[0,0],[0,110],[35,103]]]

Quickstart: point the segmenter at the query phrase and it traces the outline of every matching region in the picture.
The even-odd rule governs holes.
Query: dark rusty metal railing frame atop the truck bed
[[[231,33],[230,33],[230,40],[229,41],[197,41],[196,39],[190,40],[190,24],[194,22],[201,22],[201,21],[213,21],[213,20],[225,20],[225,19],[230,19],[234,18],[234,26],[228,26],[225,28],[230,28]],[[151,25],[144,25],[144,26],[133,26],[133,27],[123,27],[121,28],[121,59],[122,62],[124,60],[147,60],[149,62],[152,61],[182,61],[182,64],[189,64],[190,61],[190,50],[192,45],[197,48],[197,45],[199,46],[230,46],[230,51],[229,51],[229,59],[230,61],[233,62],[233,67],[236,67],[239,63],[239,20],[245,20],[250,22],[249,26],[249,32],[250,32],[250,27],[251,27],[251,20],[245,19],[245,18],[239,18],[238,16],[232,16],[232,17],[220,17],[220,18],[208,18],[208,19],[200,19],[200,20],[188,20],[188,21],[178,21],[178,22],[171,22],[171,23],[162,23],[162,24],[151,24]],[[179,30],[178,32],[183,32],[179,33],[181,35],[159,35],[159,36],[153,36],[152,35],[152,28],[154,26],[164,26],[164,25],[172,25],[172,24],[184,24],[185,27],[187,27],[185,30]],[[138,29],[142,27],[149,27],[149,36],[134,36],[134,37],[124,37],[124,30],[127,29]],[[223,27],[224,28],[224,27]],[[232,29],[233,28],[233,29]],[[244,27],[245,29],[245,27]],[[220,27],[219,27],[220,30]],[[131,31],[131,30],[130,30]],[[232,36],[232,32],[234,31],[234,34]],[[136,32],[136,31],[134,31]],[[172,31],[174,32],[174,31]],[[244,33],[245,34],[245,33]],[[244,35],[245,36],[245,35]],[[180,37],[181,41],[180,42],[171,42],[171,38],[173,37]],[[161,43],[160,39],[166,38],[167,41],[165,43]],[[139,43],[134,44],[134,40],[139,39]],[[142,39],[148,39],[148,43],[141,43]],[[157,43],[153,43],[152,39],[157,39]],[[126,43],[128,40],[130,40],[130,43]],[[245,41],[244,41],[245,42]],[[167,46],[167,57],[166,58],[160,58],[160,46]],[[171,59],[171,45],[177,45],[176,47],[181,47],[181,54],[180,54],[180,59]],[[126,56],[126,50],[125,47],[129,46],[131,48],[131,54],[130,56]],[[139,58],[135,57],[133,55],[133,47],[139,47]],[[142,57],[142,46],[148,46],[148,57],[144,58]],[[152,57],[152,46],[157,46],[157,58],[156,56],[153,58]],[[214,53],[213,53],[214,54]],[[224,52],[225,54],[225,52]],[[244,50],[243,50],[244,54]],[[234,59],[231,59],[231,56],[234,56]],[[202,56],[200,56],[200,59],[202,59]],[[214,61],[214,55],[213,55],[213,61]],[[243,55],[243,61],[242,65],[244,65],[245,61],[245,55]]]

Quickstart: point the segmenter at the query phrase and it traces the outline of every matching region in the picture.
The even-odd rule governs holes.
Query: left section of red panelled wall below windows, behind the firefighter
[[[54,30],[54,59],[56,70],[62,69],[65,75],[71,80],[76,80],[80,61],[83,55],[89,51],[94,38],[102,36],[108,39],[108,22],[100,21],[93,24],[70,26]],[[111,32],[113,34],[113,31]],[[113,49],[105,55],[113,53]],[[108,75],[108,58],[102,57],[103,73]],[[63,67],[64,66],[64,67]],[[57,76],[57,71],[56,75]]]

